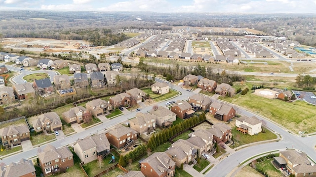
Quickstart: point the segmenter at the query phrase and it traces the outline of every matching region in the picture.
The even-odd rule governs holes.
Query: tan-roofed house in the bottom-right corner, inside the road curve
[[[295,177],[316,177],[316,165],[305,152],[288,149],[280,151],[279,157],[285,160],[286,170]]]

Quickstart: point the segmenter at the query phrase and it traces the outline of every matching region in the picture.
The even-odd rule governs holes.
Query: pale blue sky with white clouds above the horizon
[[[316,13],[316,0],[0,0],[1,10]]]

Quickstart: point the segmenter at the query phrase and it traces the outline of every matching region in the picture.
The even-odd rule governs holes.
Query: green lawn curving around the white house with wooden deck
[[[249,134],[243,134],[240,131],[236,129],[236,127],[232,128],[232,134],[234,139],[234,145],[231,146],[231,148],[237,148],[242,145],[246,145],[253,142],[259,142],[264,140],[273,140],[276,139],[276,134],[272,133],[268,129],[264,129],[266,133],[259,133],[258,135],[249,135]]]

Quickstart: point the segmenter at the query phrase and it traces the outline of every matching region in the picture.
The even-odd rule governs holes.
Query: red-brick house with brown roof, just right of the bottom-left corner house
[[[39,152],[40,168],[45,177],[74,166],[73,153],[68,147],[55,148],[51,145]]]

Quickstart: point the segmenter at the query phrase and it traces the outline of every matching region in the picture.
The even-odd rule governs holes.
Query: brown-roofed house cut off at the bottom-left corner
[[[32,160],[22,158],[18,163],[10,163],[0,167],[1,177],[36,177]]]

